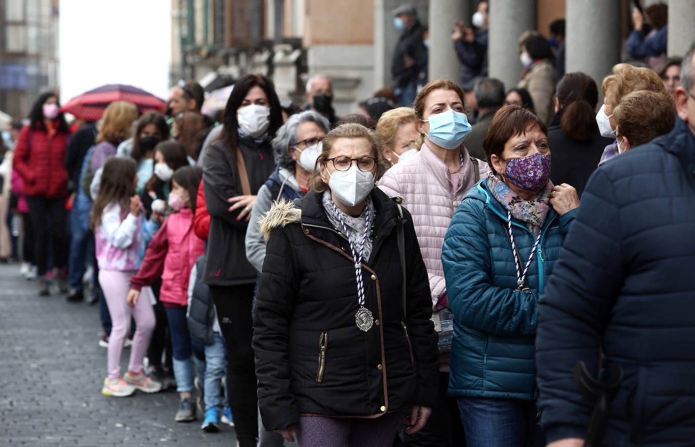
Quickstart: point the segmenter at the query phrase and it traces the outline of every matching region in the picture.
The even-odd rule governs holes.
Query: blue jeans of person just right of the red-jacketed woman
[[[92,231],[89,229],[89,215],[92,201],[80,188],[70,211],[70,261],[68,265],[70,287],[75,291],[83,289],[82,276],[85,273],[85,262],[89,256]]]

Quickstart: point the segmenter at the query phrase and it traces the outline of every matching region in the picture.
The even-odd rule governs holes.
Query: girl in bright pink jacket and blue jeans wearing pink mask
[[[131,277],[132,288],[128,303],[138,305],[140,288],[162,279],[159,300],[164,304],[172,337],[174,377],[181,397],[179,412],[174,420],[195,420],[193,401],[192,348],[188,334],[188,279],[195,260],[205,252],[201,239],[193,231],[193,211],[202,168],[185,166],[174,172],[169,206],[172,213],[147,246],[145,259],[137,275]]]

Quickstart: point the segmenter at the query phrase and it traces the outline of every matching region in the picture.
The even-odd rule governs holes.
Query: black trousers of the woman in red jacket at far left
[[[34,231],[34,258],[39,276],[46,275],[48,249],[53,247],[53,263],[58,270],[67,268],[68,238],[65,199],[26,197],[29,218]],[[53,243],[49,243],[52,238]]]

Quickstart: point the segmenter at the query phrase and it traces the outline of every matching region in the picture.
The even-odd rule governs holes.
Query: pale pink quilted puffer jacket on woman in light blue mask
[[[461,154],[464,166],[455,192],[452,191],[448,168],[427,147],[427,143],[423,143],[420,152],[386,171],[378,185],[389,197],[403,197],[405,208],[413,216],[418,243],[430,276],[432,309],[446,293],[441,247],[449,222],[476,179],[484,179],[490,170],[484,161],[476,160],[475,163],[466,147],[461,147]]]

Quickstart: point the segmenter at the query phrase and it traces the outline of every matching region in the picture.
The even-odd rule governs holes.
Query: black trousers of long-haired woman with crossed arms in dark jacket
[[[210,286],[210,295],[227,346],[227,393],[240,447],[256,446],[258,395],[256,366],[251,348],[251,308],[255,284]]]

